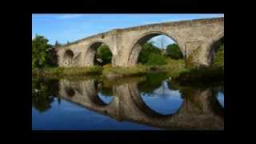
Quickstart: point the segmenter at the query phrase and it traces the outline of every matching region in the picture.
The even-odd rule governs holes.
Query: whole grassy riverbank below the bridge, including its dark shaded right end
[[[125,77],[139,77],[145,74],[159,74],[166,73],[167,77],[176,78],[178,81],[196,81],[201,79],[202,82],[215,81],[224,79],[223,66],[211,66],[202,69],[186,69],[183,60],[169,59],[166,65],[141,65],[130,67],[112,67],[111,65],[105,66],[91,66],[91,67],[52,67],[42,70],[33,69],[33,76],[43,77],[65,77],[65,76],[92,76],[98,75],[102,78],[125,78]]]

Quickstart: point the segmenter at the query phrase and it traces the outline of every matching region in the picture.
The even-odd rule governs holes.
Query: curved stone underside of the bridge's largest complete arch
[[[158,35],[166,35],[168,38],[171,38],[180,48],[180,44],[178,43],[177,39],[173,38],[173,36],[170,36],[170,34],[167,34],[162,31],[150,31],[146,32],[142,35],[140,35],[138,38],[134,40],[134,42],[129,46],[130,47],[130,53],[128,55],[127,60],[127,66],[134,66],[138,62],[138,55],[140,51],[142,50],[142,45],[150,40],[150,38],[154,38]],[[181,49],[182,51],[182,49]],[[182,51],[183,54],[183,51]]]

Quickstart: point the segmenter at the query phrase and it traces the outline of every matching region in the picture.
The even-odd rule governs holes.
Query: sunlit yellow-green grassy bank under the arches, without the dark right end
[[[88,76],[100,74],[106,78],[134,77],[142,76],[147,73],[168,73],[170,75],[178,74],[185,69],[185,62],[182,60],[169,59],[166,65],[142,65],[130,67],[112,67],[110,64],[105,66],[90,67],[50,67],[44,69],[32,69],[34,76]]]

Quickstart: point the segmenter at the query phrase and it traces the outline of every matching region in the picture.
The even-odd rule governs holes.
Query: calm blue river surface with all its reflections
[[[223,130],[224,86],[170,78],[32,78],[33,130]]]

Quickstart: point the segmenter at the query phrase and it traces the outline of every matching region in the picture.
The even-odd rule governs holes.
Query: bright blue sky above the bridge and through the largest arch
[[[224,14],[32,14],[32,39],[39,34],[49,39],[50,44],[56,41],[64,44],[118,28],[218,17]],[[159,47],[159,38],[165,36],[150,41]],[[165,39],[164,46],[174,43],[170,38]]]

